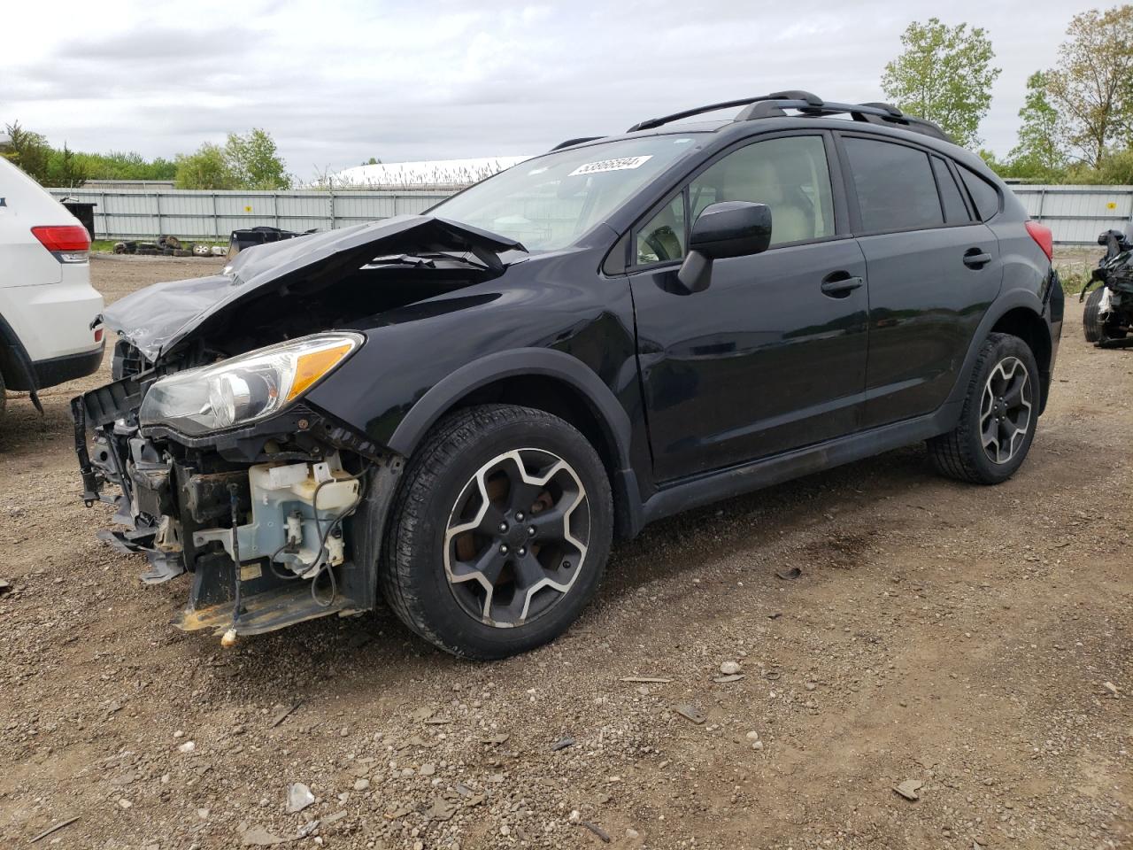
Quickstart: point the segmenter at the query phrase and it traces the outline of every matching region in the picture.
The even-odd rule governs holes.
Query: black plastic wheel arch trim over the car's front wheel
[[[445,376],[418,399],[386,442],[409,457],[431,427],[462,398],[509,377],[543,375],[570,384],[591,406],[598,426],[615,453],[611,486],[625,509],[619,532],[633,536],[641,528],[641,493],[631,460],[632,423],[613,391],[585,363],[551,348],[517,348],[472,360]]]

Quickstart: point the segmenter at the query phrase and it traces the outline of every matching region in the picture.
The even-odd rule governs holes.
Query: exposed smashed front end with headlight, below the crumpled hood
[[[363,342],[315,334],[71,402],[83,498],[128,527],[100,536],[145,554],[146,583],[193,573],[178,627],[232,639],[374,606],[376,554],[352,518],[386,501],[400,462],[301,401]],[[129,349],[116,372],[144,364]]]

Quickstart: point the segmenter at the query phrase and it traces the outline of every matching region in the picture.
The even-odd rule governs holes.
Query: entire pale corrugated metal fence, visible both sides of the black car
[[[1094,245],[1098,233],[1133,220],[1133,186],[1012,186],[1031,218],[1059,245]],[[284,230],[348,227],[418,213],[452,194],[421,192],[188,192],[178,189],[49,189],[57,198],[96,204],[96,239],[228,239],[239,228]]]

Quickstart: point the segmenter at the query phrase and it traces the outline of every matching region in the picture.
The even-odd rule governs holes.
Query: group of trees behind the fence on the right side
[[[895,105],[977,147],[1000,69],[987,32],[938,18],[913,22],[881,88]],[[1133,184],[1133,6],[1071,18],[1053,67],[1026,80],[1015,146],[980,155],[1003,177],[1037,182]]]

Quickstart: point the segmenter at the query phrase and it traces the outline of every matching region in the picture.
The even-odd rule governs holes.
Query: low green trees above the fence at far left
[[[206,142],[172,160],[146,160],[139,153],[80,153],[18,121],[6,127],[0,156],[15,162],[42,186],[78,188],[87,180],[172,180],[179,189],[288,189],[293,178],[275,141],[263,129],[228,134],[223,145]]]

